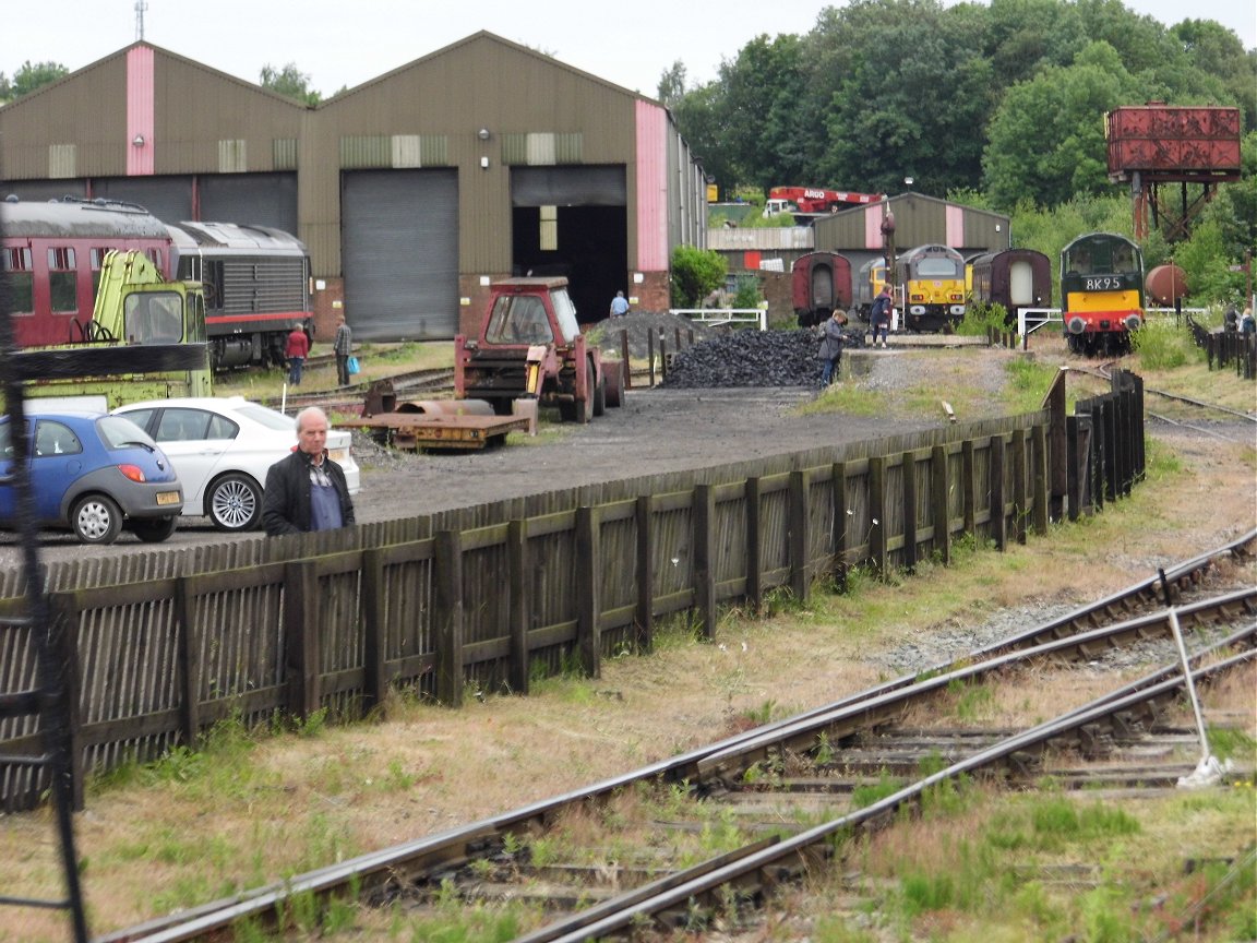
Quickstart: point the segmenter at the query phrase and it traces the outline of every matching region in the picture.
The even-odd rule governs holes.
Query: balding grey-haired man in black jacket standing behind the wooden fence
[[[349,484],[327,454],[327,414],[318,406],[297,414],[297,449],[266,470],[261,524],[269,536],[353,524]]]

